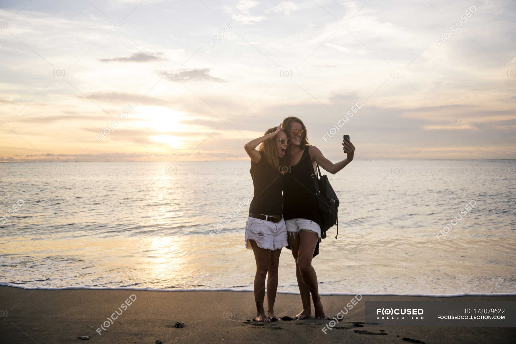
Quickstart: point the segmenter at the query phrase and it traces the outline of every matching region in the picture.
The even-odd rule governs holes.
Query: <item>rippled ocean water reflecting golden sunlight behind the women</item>
[[[0,163],[0,284],[252,290],[249,161]],[[319,291],[516,293],[516,160],[354,160]],[[237,211],[235,211],[235,208]],[[281,292],[298,292],[283,249]]]

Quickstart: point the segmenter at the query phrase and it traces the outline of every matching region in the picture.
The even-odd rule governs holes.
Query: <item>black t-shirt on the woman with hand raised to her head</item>
[[[249,212],[264,215],[281,215],[283,212],[283,178],[277,168],[269,165],[265,154],[260,152],[259,162],[251,160],[251,177],[254,196],[249,205]]]

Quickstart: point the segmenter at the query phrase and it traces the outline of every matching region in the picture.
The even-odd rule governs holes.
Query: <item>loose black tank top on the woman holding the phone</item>
[[[321,225],[317,198],[312,178],[312,158],[304,149],[299,162],[283,175],[283,217],[307,219]]]

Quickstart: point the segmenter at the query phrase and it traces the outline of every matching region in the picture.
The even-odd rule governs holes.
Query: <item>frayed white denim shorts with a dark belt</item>
[[[259,248],[266,250],[282,249],[288,245],[287,227],[285,220],[279,222],[265,221],[250,216],[246,223],[246,248],[252,250],[251,242],[254,240]]]

